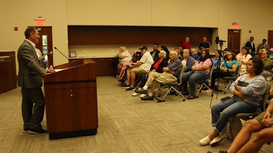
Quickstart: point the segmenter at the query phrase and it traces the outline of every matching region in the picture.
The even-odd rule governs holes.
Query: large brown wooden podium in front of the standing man
[[[80,59],[44,76],[49,139],[94,135],[98,128],[96,63]]]

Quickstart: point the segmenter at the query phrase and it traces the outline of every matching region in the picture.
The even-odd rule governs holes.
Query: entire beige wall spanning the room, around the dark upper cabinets
[[[237,22],[242,30],[241,47],[250,36],[255,37],[258,46],[262,39],[267,39],[268,30],[273,30],[272,7],[273,0],[0,0],[0,51],[17,51],[25,28],[34,26],[37,16],[45,17],[45,26],[52,26],[53,46],[66,55],[67,25],[214,27],[218,30],[213,30],[213,39],[218,35],[227,40],[227,29]],[[13,31],[14,26],[19,30]],[[108,54],[111,48],[114,51],[110,50],[110,54],[116,52],[118,47],[84,48],[99,55]],[[65,62],[68,60],[55,51],[54,64]]]

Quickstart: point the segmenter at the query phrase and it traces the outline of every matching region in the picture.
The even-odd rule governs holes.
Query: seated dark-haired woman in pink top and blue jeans
[[[188,81],[190,85],[190,94],[188,100],[195,99],[196,81],[206,80],[209,76],[209,70],[212,66],[212,61],[209,57],[209,51],[202,51],[200,59],[193,65],[192,71],[186,72],[182,76],[183,95],[188,93]]]

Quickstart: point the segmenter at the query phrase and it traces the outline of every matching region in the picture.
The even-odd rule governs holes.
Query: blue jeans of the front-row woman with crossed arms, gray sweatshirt
[[[236,102],[233,98],[224,102],[217,102],[211,107],[211,125],[218,132],[222,132],[228,118],[238,113],[253,113],[258,106],[249,102]]]

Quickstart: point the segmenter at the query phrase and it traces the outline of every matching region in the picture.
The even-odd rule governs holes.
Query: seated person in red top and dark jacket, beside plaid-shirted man
[[[168,61],[166,60],[166,51],[162,50],[158,54],[159,59],[155,61],[151,68],[150,72],[158,72],[163,73],[163,67],[166,67],[168,65]],[[139,84],[140,88],[143,88],[146,83],[146,76],[141,76],[141,81]],[[138,93],[134,93],[132,96],[138,96]],[[144,97],[145,95],[141,95],[140,97]]]

